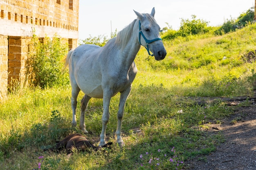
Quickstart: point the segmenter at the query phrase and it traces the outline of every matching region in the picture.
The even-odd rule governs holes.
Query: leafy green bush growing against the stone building
[[[68,44],[63,44],[61,38],[54,36],[40,40],[33,35],[27,69],[29,84],[41,88],[68,84],[68,73],[63,71],[61,62],[67,52]]]

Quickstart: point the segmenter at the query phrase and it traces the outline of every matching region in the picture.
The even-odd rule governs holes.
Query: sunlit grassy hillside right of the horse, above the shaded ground
[[[222,36],[191,35],[166,41],[168,53],[161,62],[142,57],[147,55],[141,50],[135,60],[139,74],[152,72],[159,84],[175,88],[173,93],[177,95],[252,95],[250,76],[254,75],[256,60],[255,28],[252,24]],[[180,90],[177,92],[176,88]]]

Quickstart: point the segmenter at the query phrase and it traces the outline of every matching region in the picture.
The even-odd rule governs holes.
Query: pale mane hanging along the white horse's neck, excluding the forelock
[[[132,33],[132,29],[133,29],[133,26],[134,26],[136,20],[137,19],[132,21],[132,23],[130,23],[124,29],[119,31],[119,33],[117,33],[115,44],[118,44],[121,47],[121,49],[123,49],[126,46],[126,44],[128,43],[128,41],[130,40],[130,35]]]

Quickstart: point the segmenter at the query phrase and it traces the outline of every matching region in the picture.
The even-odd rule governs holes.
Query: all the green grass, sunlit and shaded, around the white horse
[[[81,133],[71,126],[70,86],[17,88],[0,104],[0,169],[32,170],[38,162],[41,170],[184,169],[188,159],[205,159],[225,140],[221,133],[209,135],[207,124],[221,122],[233,108],[219,99],[201,104],[196,99],[253,95],[255,55],[248,54],[256,49],[255,38],[255,24],[223,36],[178,38],[165,42],[168,53],[160,62],[141,48],[122,124],[124,148],[114,138],[119,95],[111,100],[106,131],[112,148],[67,157],[43,149],[70,133]],[[79,100],[82,97],[79,94]],[[79,107],[80,102],[78,122]],[[96,145],[101,115],[102,100],[91,99],[86,137]]]

